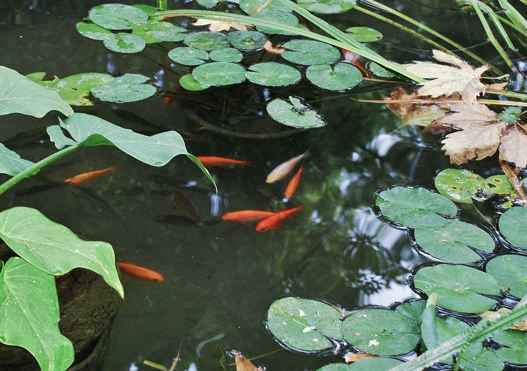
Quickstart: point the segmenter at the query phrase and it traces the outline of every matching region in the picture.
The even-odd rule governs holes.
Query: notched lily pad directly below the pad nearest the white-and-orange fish
[[[466,264],[481,260],[468,246],[492,253],[494,239],[475,225],[452,220],[439,229],[415,229],[415,242],[436,259],[447,263]]]

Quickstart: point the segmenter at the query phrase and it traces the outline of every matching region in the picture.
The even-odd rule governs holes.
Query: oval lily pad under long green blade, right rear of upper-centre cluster
[[[280,54],[282,58],[296,64],[326,64],[333,63],[340,58],[340,52],[336,48],[314,40],[289,41],[282,47],[289,49]]]

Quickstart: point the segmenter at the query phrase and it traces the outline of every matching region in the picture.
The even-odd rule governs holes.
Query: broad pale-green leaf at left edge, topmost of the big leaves
[[[34,83],[13,69],[0,66],[0,115],[22,113],[43,117],[50,111],[69,116],[73,109],[57,93]]]

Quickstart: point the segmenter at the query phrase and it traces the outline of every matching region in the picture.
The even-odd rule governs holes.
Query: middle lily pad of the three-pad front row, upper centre
[[[276,62],[264,62],[253,64],[246,72],[247,79],[255,84],[266,86],[286,86],[296,84],[302,75],[291,66]]]

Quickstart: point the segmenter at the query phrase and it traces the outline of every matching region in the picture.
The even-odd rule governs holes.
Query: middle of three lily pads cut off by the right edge
[[[520,298],[527,295],[527,257],[496,256],[487,262],[485,270],[496,279],[503,291]]]

